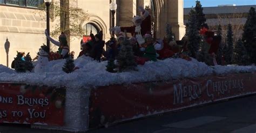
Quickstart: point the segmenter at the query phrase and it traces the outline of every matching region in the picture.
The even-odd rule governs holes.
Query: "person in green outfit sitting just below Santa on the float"
[[[144,54],[142,57],[147,58],[149,61],[157,61],[157,51],[154,48],[153,38],[150,34],[145,34],[145,48]]]

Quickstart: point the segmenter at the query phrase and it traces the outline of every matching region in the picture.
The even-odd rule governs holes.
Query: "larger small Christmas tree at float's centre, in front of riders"
[[[132,46],[130,41],[127,40],[127,35],[125,33],[125,40],[121,44],[121,49],[117,56],[117,63],[119,72],[130,69],[135,70],[137,63],[135,62],[135,57],[133,55]]]

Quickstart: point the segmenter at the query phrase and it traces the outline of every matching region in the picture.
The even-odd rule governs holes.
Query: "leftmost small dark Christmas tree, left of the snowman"
[[[12,63],[12,68],[15,69],[16,72],[26,72],[25,60],[23,58],[24,53],[17,51],[17,56],[14,58]]]

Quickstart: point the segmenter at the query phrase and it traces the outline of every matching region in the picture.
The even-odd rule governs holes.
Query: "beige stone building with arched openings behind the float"
[[[60,0],[52,0],[52,3]],[[147,7],[152,15],[152,29],[155,38],[164,38],[166,23],[173,27],[176,39],[179,40],[185,33],[183,24],[183,0],[113,0],[117,3],[116,22],[118,26],[132,26],[133,16],[138,15],[138,6]],[[80,22],[80,26],[89,35],[92,30],[97,33],[102,30],[105,40],[110,38],[111,0],[70,0],[70,6],[82,8],[89,14],[89,19]],[[9,65],[16,56],[16,51],[30,52],[31,57],[36,57],[39,47],[46,38],[45,11],[38,8],[43,0],[0,0],[0,64],[6,65],[4,43],[6,38],[10,42]],[[50,29],[54,29],[59,22],[51,18]],[[71,36],[70,51],[75,51],[78,56],[80,40]],[[58,38],[55,38],[58,40]],[[57,50],[57,47],[51,49]]]

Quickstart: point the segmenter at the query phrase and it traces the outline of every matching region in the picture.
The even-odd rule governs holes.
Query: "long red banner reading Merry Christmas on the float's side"
[[[256,93],[255,82],[255,73],[239,73],[100,87],[91,91],[89,127]]]

